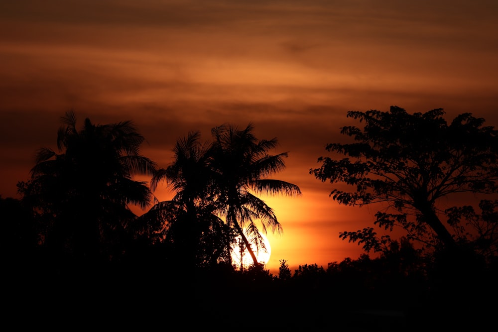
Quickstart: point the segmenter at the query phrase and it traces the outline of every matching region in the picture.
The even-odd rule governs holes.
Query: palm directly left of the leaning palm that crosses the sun
[[[175,192],[171,201],[157,203],[146,218],[166,221],[166,240],[173,243],[179,262],[188,267],[216,263],[227,256],[227,246],[222,245],[226,237],[221,236],[227,229],[214,214],[210,149],[210,144],[200,142],[199,131],[190,132],[177,140],[174,161],[160,168],[150,182],[152,191],[165,181]]]

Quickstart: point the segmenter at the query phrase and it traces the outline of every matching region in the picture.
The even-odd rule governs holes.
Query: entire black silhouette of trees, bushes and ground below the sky
[[[396,135],[400,133],[396,126],[391,128],[392,123],[403,119],[446,123],[441,121],[440,110],[424,116],[416,113],[413,118],[398,108],[388,114],[351,114],[369,120],[380,117],[381,126]],[[22,198],[0,197],[4,216],[1,264],[11,309],[35,313],[38,320],[55,315],[75,324],[99,317],[107,323],[114,321],[113,327],[129,327],[127,323],[133,322],[142,329],[157,317],[165,317],[165,325],[230,329],[244,324],[407,331],[425,328],[429,322],[441,329],[488,322],[483,315],[494,308],[497,295],[498,201],[482,200],[480,213],[469,206],[447,209],[447,223],[456,234],[449,238],[448,230],[439,227],[442,221],[426,188],[447,171],[447,164],[437,161],[443,157],[448,164],[463,160],[458,167],[467,172],[466,166],[482,166],[471,155],[477,151],[486,161],[486,172],[461,173],[449,189],[446,184],[442,188],[458,192],[455,183],[464,183],[467,191],[496,194],[496,147],[483,148],[477,139],[468,145],[458,134],[467,130],[495,139],[495,130],[479,128],[483,119],[464,114],[452,123],[456,129],[443,125],[451,131],[444,139],[457,139],[455,149],[462,148],[464,157],[446,150],[438,150],[441,156],[434,157],[424,148],[419,151],[424,155],[420,164],[428,165],[428,170],[417,172],[407,171],[412,171],[411,164],[397,162],[399,147],[390,143],[380,146],[380,151],[368,144],[331,145],[350,150],[353,156],[364,149],[362,153],[373,156],[382,171],[394,167],[407,175],[408,185],[390,180],[379,183],[364,177],[373,164],[352,166],[344,159],[324,159],[323,168],[316,170],[323,179],[343,180],[349,174],[347,181],[366,184],[359,186],[361,196],[334,192],[343,203],[361,200],[370,204],[373,196],[366,188],[377,190],[380,200],[387,193],[392,195],[399,214],[378,213],[375,222],[385,229],[400,224],[408,236],[399,240],[378,237],[372,227],[344,232],[341,237],[363,243],[367,252],[373,250],[380,256],[364,254],[327,267],[310,262],[294,271],[282,259],[277,275],[257,262],[251,250],[254,264],[243,269],[232,264],[231,256],[237,236],[247,247],[251,242],[261,247],[258,227],[281,228],[273,210],[255,193],[300,194],[293,184],[267,178],[285,166],[286,153],[268,154],[276,139],[256,139],[250,124],[242,130],[232,125],[215,127],[211,142],[201,142],[200,134],[192,132],[177,141],[174,161],[159,168],[139,154],[144,137],[130,121],[100,125],[86,119],[78,130],[73,112],[61,120],[59,151],[38,151],[31,178],[18,183]],[[346,129],[360,135],[358,128]],[[380,135],[390,142],[392,134],[389,131],[383,137],[382,130],[371,130],[360,136],[377,142]],[[413,135],[404,152],[408,159],[413,151],[417,156],[413,146],[420,148]],[[430,142],[423,144],[427,147]],[[373,145],[377,148],[378,144]],[[433,180],[422,181],[426,171],[434,172]],[[150,187],[134,180],[135,175],[144,174],[151,176]],[[479,181],[473,181],[475,176]],[[157,202],[152,189],[163,181],[175,195],[171,201]],[[402,188],[396,189],[398,185]],[[407,190],[403,195],[413,201],[400,201],[400,190]],[[138,217],[130,205],[150,208]],[[406,213],[406,206],[416,213]],[[434,225],[437,232],[430,231]],[[466,225],[477,232],[469,232]],[[415,248],[413,240],[425,241],[426,246]]]

